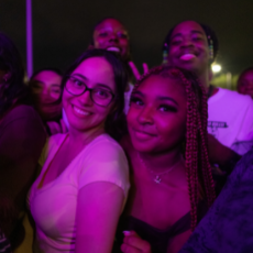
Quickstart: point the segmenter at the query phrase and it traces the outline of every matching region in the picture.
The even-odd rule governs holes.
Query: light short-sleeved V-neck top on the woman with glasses
[[[55,180],[37,189],[66,136],[56,134],[50,139],[48,148],[40,160],[44,166],[30,190],[30,209],[36,223],[35,252],[75,252],[77,195],[84,186],[95,182],[116,184],[124,193],[124,202],[130,188],[123,150],[108,134],[101,134]]]

